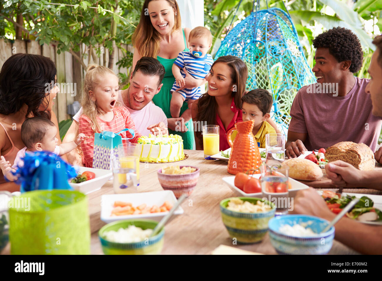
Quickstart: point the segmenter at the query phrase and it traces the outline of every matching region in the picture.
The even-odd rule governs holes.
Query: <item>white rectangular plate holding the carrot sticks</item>
[[[160,213],[148,213],[148,214],[129,214],[125,216],[111,216],[113,205],[115,201],[129,202],[134,207],[141,204],[147,204],[147,206],[157,205],[162,206],[165,201],[170,202],[171,205],[175,205],[176,198],[171,190],[141,192],[141,193],[125,193],[125,194],[108,194],[101,196],[101,220],[105,223],[111,223],[113,221],[119,221],[122,219],[152,219],[154,221],[160,221],[168,212]],[[183,214],[181,206],[175,210],[174,215]],[[172,218],[174,218],[174,215]]]

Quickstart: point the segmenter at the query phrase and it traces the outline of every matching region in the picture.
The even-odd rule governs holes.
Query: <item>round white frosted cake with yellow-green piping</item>
[[[141,136],[138,143],[142,145],[140,161],[173,162],[185,158],[183,139],[180,135]]]

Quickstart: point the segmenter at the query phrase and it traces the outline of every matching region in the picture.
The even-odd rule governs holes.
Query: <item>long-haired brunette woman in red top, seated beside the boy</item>
[[[208,91],[191,108],[192,119],[203,125],[219,125],[220,150],[229,148],[227,132],[241,122],[241,96],[245,91],[248,70],[246,64],[231,55],[219,57],[211,67]],[[202,123],[203,122],[203,123]],[[195,131],[197,150],[203,149],[202,132]]]

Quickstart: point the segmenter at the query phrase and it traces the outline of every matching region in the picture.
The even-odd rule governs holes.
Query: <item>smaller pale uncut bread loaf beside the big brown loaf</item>
[[[323,176],[320,167],[308,159],[288,159],[282,163],[283,166],[289,167],[289,177],[295,180],[317,180]]]

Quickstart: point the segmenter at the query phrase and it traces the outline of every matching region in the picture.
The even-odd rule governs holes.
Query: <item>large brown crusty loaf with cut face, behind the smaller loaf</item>
[[[341,141],[330,146],[326,150],[325,158],[329,162],[342,160],[362,171],[373,170],[376,165],[374,153],[369,146],[352,141]]]

